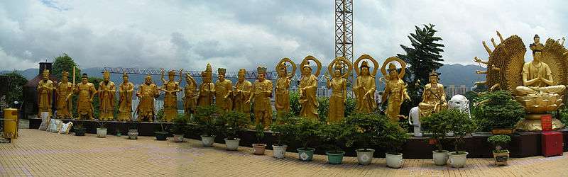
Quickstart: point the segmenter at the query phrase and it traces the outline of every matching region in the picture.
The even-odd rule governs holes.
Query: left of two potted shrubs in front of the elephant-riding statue
[[[432,139],[430,140],[432,144],[435,144],[437,149],[432,152],[432,159],[434,160],[434,164],[438,166],[446,165],[449,158],[449,152],[442,147],[442,140],[446,137],[447,133],[450,132],[448,121],[449,118],[455,116],[453,115],[454,113],[456,112],[442,110],[439,113],[434,113],[421,120],[425,132],[432,133]]]

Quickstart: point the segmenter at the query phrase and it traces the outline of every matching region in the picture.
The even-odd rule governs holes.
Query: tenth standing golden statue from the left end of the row
[[[231,98],[229,97],[231,91],[233,91],[233,82],[225,79],[225,73],[226,69],[217,69],[217,77],[219,79],[215,82],[215,105],[217,105],[217,108],[229,111],[233,108]]]

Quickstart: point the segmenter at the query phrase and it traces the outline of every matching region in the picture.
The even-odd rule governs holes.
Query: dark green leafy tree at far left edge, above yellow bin
[[[14,101],[21,103],[23,101],[23,85],[28,83],[28,79],[16,71],[2,74],[2,76],[7,76],[9,79],[7,83],[8,90],[6,91],[6,104],[12,105]]]

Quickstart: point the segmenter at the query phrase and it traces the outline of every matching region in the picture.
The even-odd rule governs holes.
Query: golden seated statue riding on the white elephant
[[[430,79],[430,83],[424,86],[422,102],[418,104],[419,118],[426,118],[432,113],[438,113],[448,108],[446,91],[444,91],[444,85],[438,83],[438,74],[432,71],[428,79]]]

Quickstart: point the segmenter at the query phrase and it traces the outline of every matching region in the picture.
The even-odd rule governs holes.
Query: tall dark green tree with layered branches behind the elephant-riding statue
[[[434,27],[435,25],[432,24],[424,25],[424,28],[415,26],[415,33],[410,33],[408,36],[412,47],[400,45],[406,54],[397,54],[397,56],[410,65],[404,80],[408,83],[408,95],[412,99],[403,104],[402,113],[408,113],[410,108],[422,101],[422,90],[419,86],[415,86],[416,81],[420,80],[421,86],[427,84],[430,72],[444,65],[441,63],[444,59],[440,55],[440,52],[444,52],[442,50],[444,45],[438,43],[442,38],[435,36],[437,30]]]

